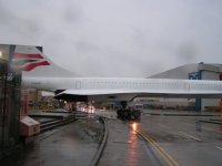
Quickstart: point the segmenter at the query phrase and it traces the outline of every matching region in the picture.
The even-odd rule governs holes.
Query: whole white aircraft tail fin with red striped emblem
[[[41,46],[16,45],[12,64],[21,69],[24,76],[78,76],[50,61]]]

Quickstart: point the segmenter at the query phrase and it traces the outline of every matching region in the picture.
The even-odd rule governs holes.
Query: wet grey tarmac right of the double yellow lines
[[[138,131],[153,139],[178,165],[221,166],[222,127],[202,116],[143,115]]]

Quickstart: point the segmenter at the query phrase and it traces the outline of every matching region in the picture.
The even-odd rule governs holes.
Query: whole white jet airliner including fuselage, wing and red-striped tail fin
[[[16,45],[12,64],[22,70],[24,87],[53,91],[58,98],[130,101],[137,96],[206,98],[222,96],[220,81],[80,77],[56,65],[37,46]]]

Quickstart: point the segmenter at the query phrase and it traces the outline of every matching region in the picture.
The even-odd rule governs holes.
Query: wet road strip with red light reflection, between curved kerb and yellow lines
[[[128,122],[108,121],[108,141],[99,166],[157,165],[151,149],[137,136]]]

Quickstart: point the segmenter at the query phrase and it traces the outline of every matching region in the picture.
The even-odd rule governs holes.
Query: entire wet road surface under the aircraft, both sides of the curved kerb
[[[219,116],[165,116],[143,113],[140,122],[108,117],[108,141],[99,166],[221,166],[222,126],[202,123]],[[16,160],[3,166],[88,166],[101,142],[102,124],[81,120],[36,138]]]

